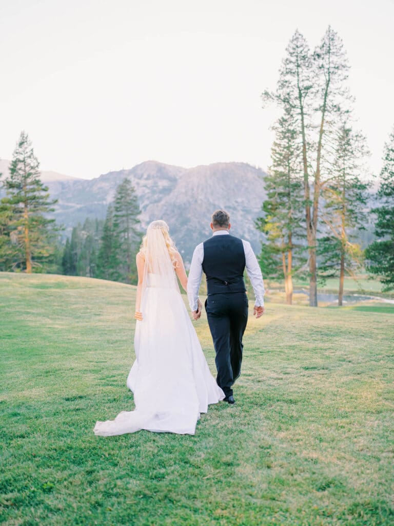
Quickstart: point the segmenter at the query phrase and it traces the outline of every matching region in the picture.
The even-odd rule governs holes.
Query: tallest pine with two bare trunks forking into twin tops
[[[348,64],[343,44],[328,27],[313,55],[296,31],[287,49],[275,93],[264,92],[263,101],[292,107],[302,142],[305,226],[308,243],[309,305],[317,306],[317,231],[319,199],[329,162],[330,131],[349,100],[345,81]],[[317,130],[317,134],[316,134]]]

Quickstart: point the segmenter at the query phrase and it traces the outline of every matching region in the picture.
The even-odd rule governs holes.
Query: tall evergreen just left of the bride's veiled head
[[[141,242],[142,233],[139,230],[141,214],[136,190],[129,179],[123,179],[117,187],[113,204],[113,228],[117,232],[120,245],[118,259],[120,261],[121,280],[126,283],[136,282],[136,254]]]

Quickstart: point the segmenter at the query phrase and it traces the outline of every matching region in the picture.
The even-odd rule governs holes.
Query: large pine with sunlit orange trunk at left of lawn
[[[10,237],[19,248],[17,264],[30,273],[33,266],[42,266],[54,256],[55,219],[48,219],[45,214],[54,211],[57,201],[50,200],[48,188],[40,180],[39,162],[24,131],[15,148],[5,187],[12,206]]]

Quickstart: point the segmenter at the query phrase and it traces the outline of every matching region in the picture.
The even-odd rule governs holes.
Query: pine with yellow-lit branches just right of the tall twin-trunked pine
[[[345,273],[355,277],[363,264],[363,252],[356,242],[358,230],[365,229],[369,187],[360,179],[368,155],[365,137],[345,120],[334,142],[331,177],[322,186],[322,218],[326,235],[319,239],[323,279],[339,277],[338,305],[343,304]]]

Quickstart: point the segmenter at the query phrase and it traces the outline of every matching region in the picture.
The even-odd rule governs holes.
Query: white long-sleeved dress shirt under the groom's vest
[[[213,232],[214,236],[228,236],[228,230],[216,230]],[[260,266],[257,258],[252,250],[251,244],[242,239],[245,252],[245,267],[246,272],[251,280],[254,295],[256,298],[256,307],[264,307],[264,281],[261,274]],[[202,277],[202,262],[204,259],[204,244],[197,245],[193,252],[192,263],[190,265],[190,272],[188,278],[188,300],[191,310],[197,310],[197,300],[199,297],[199,289]]]

